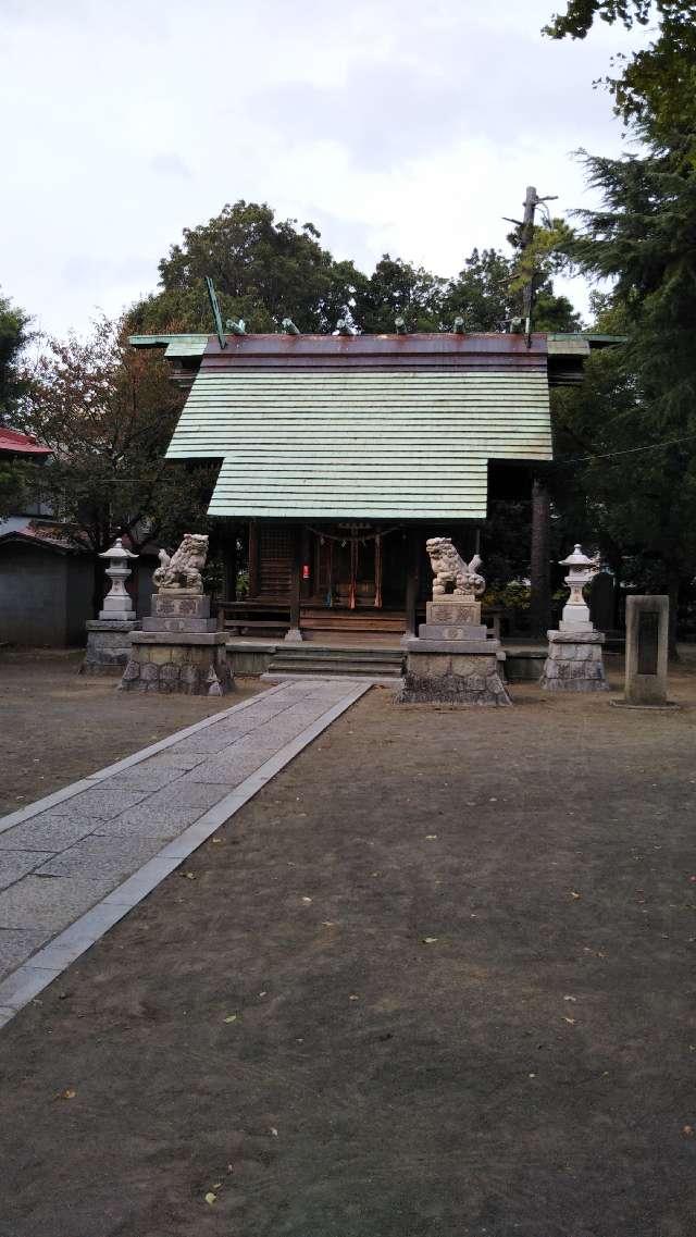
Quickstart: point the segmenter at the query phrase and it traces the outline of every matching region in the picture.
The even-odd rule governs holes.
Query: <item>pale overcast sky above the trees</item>
[[[4,294],[83,332],[239,198],[312,220],[363,270],[388,251],[456,273],[504,244],[527,184],[569,212],[587,204],[572,151],[621,148],[592,80],[630,41],[543,38],[559,7],[0,0]]]

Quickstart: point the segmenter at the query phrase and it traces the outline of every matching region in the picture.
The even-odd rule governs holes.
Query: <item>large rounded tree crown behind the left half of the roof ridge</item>
[[[129,314],[131,330],[209,330],[204,277],[215,283],[223,318],[247,330],[278,330],[292,318],[304,332],[330,332],[350,317],[366,281],[352,262],[336,262],[313,224],[276,221],[266,204],[236,202],[198,228],[185,228],[159,262],[162,291]]]

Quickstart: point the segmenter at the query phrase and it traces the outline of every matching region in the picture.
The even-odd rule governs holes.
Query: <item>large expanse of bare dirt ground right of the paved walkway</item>
[[[372,690],[0,1033],[1,1237],[694,1237],[671,687]]]

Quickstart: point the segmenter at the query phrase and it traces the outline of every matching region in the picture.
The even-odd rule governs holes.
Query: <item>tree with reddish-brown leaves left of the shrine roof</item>
[[[27,475],[66,534],[90,550],[95,609],[99,554],[115,536],[126,533],[138,550],[206,523],[215,469],[164,460],[182,402],[166,362],[129,348],[124,324],[106,318],[84,341],[48,340],[27,380],[19,428],[53,450]]]

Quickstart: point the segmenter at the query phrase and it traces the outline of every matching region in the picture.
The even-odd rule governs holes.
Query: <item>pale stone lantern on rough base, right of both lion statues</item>
[[[570,589],[558,631],[546,632],[549,652],[540,685],[545,691],[608,691],[602,661],[605,635],[595,628],[582,589],[598,570],[596,559],[576,546],[561,559],[567,567],[565,583]]]

